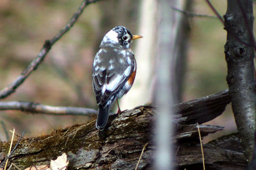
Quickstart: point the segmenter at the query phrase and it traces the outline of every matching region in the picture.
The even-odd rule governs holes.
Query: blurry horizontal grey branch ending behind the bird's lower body
[[[97,114],[97,110],[93,110],[90,108],[47,106],[43,104],[24,101],[0,102],[0,110],[20,110],[29,113],[44,113],[47,115],[92,116]]]

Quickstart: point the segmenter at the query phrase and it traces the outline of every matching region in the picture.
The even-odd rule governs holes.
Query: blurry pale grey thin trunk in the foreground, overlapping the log
[[[156,87],[153,93],[154,104],[157,106],[156,130],[156,157],[154,160],[157,169],[172,170],[175,143],[170,139],[175,136],[176,128],[172,124],[173,108],[177,103],[175,94],[175,50],[178,48],[177,32],[180,24],[180,13],[170,6],[180,8],[181,2],[175,0],[157,1],[157,29],[156,29]]]

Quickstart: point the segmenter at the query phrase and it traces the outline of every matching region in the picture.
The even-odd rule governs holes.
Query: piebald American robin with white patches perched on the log
[[[99,105],[96,127],[100,131],[108,122],[112,104],[132,87],[136,74],[136,60],[130,45],[132,40],[138,38],[142,36],[132,36],[127,28],[115,27],[104,36],[100,50],[95,55],[92,85]],[[119,104],[118,113],[121,113]]]

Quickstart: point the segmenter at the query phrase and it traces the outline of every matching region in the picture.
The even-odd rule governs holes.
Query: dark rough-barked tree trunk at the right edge
[[[253,4],[229,0],[225,18],[225,55],[232,110],[248,160],[252,160],[255,132],[255,81],[253,77]]]

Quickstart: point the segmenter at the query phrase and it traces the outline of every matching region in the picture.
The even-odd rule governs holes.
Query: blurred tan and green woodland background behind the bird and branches
[[[180,53],[179,102],[189,101],[227,89],[227,66],[224,45],[227,32],[204,0],[182,0],[182,9],[192,13],[186,20]],[[211,1],[224,15],[225,0]],[[81,1],[0,1],[0,88],[12,83],[35,59],[46,39],[62,29]],[[151,101],[154,90],[154,48],[156,23],[154,0],[108,0],[90,4],[83,15],[54,46],[44,62],[11,96],[2,101],[31,101],[51,106],[77,106],[97,109],[92,91],[92,62],[104,34],[116,25],[123,25],[143,39],[134,41],[132,50],[137,59],[134,86],[121,100],[121,109],[132,109]],[[170,6],[172,8],[172,6]],[[209,15],[198,17],[194,14]],[[180,30],[181,31],[181,30]],[[113,111],[116,108],[113,107]],[[0,111],[0,140],[26,131],[26,137],[47,134],[54,129],[83,124],[92,117],[33,115],[21,111]],[[225,126],[204,139],[207,142],[223,134],[236,132],[230,105],[220,117],[207,124]],[[4,130],[6,129],[6,130]],[[8,134],[4,131],[8,131]]]

